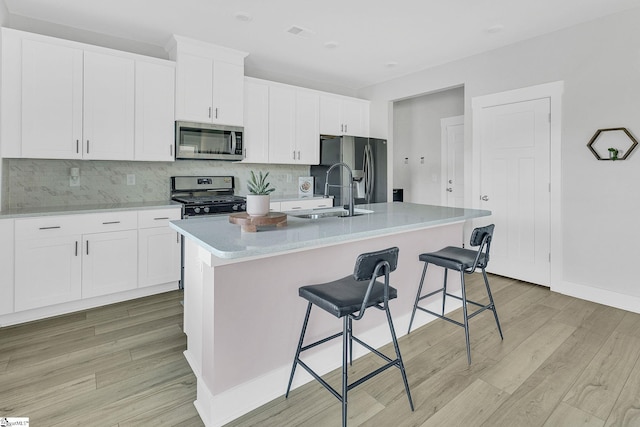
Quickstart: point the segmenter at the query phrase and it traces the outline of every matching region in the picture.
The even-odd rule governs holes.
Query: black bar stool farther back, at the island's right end
[[[491,224],[491,225],[487,225],[486,227],[478,227],[473,230],[473,233],[471,233],[470,244],[472,247],[479,246],[477,251],[474,251],[471,249],[458,248],[454,246],[447,246],[446,248],[441,249],[437,252],[424,253],[418,256],[418,259],[424,262],[424,268],[422,270],[422,278],[420,279],[420,286],[418,286],[416,302],[413,305],[413,312],[411,313],[411,321],[409,322],[409,331],[407,333],[411,332],[411,325],[413,324],[413,318],[416,315],[416,310],[422,310],[433,316],[447,320],[458,326],[462,326],[464,328],[464,335],[467,341],[467,361],[469,362],[469,364],[471,364],[471,349],[469,345],[469,319],[480,314],[485,310],[493,311],[493,315],[496,318],[496,325],[498,325],[498,332],[500,332],[500,338],[504,339],[504,337],[502,336],[502,328],[500,327],[500,321],[498,320],[498,312],[496,311],[496,307],[493,303],[493,296],[491,295],[491,289],[489,288],[489,280],[487,280],[487,272],[485,270],[485,268],[487,267],[487,264],[489,263],[489,249],[491,248],[491,238],[493,237],[493,228],[494,228],[494,224]],[[420,294],[422,293],[422,285],[424,284],[424,278],[427,273],[427,266],[430,263],[438,265],[440,267],[444,267],[444,284],[442,288],[436,291],[430,292],[426,295],[420,296]],[[475,272],[476,268],[478,267],[482,269],[484,284],[487,287],[487,295],[489,296],[489,304],[486,304],[486,305],[467,299],[467,291],[464,283],[464,275]],[[460,272],[462,298],[447,292],[447,272],[449,271],[449,269]],[[418,306],[420,301],[422,301],[423,299],[428,298],[440,292],[442,292],[442,314],[438,314],[431,310],[427,310],[426,308]],[[444,315],[444,304],[447,296],[450,296],[452,298],[456,298],[462,301],[463,323],[460,323]],[[475,305],[480,308],[474,311],[473,313],[468,314],[467,303]]]

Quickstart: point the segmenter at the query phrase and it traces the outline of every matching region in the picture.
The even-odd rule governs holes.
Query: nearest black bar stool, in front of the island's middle
[[[389,286],[389,273],[396,269],[397,263],[398,248],[389,248],[377,252],[365,253],[358,256],[352,276],[347,276],[333,282],[322,283],[319,285],[303,286],[299,289],[299,295],[308,300],[309,304],[307,305],[307,314],[302,325],[302,332],[300,333],[300,341],[298,342],[296,355],[293,359],[293,367],[291,368],[291,376],[289,377],[289,385],[287,386],[287,393],[285,397],[289,397],[289,391],[291,390],[291,383],[293,382],[296,367],[300,365],[316,380],[318,380],[320,384],[329,390],[331,394],[342,402],[342,425],[346,426],[347,392],[385,371],[387,368],[395,366],[400,369],[404,388],[407,392],[407,397],[409,398],[409,406],[413,411],[413,401],[411,400],[409,383],[407,382],[407,375],[404,370],[404,364],[402,363],[402,356],[400,355],[400,348],[398,347],[398,340],[396,339],[393,322],[391,321],[391,313],[389,312],[389,300],[398,296],[397,290]],[[384,276],[384,283],[376,280],[381,276]],[[309,314],[311,313],[311,307],[313,305],[322,308],[337,318],[343,318],[342,332],[338,332],[337,334],[303,346],[304,334],[307,329]],[[389,330],[391,331],[391,339],[396,351],[396,359],[394,360],[380,353],[378,350],[353,335],[352,321],[360,320],[362,316],[364,316],[365,310],[369,307],[384,310],[387,314]],[[317,345],[324,344],[327,341],[340,336],[342,336],[342,393],[339,393],[331,387],[300,359],[301,352],[314,348]],[[349,359],[349,364],[352,364],[353,341],[377,354],[387,363],[359,380],[349,384],[347,381],[347,359]]]

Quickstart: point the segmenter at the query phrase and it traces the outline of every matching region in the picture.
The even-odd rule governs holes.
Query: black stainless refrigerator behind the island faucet
[[[356,204],[387,201],[387,141],[358,136],[321,136],[320,164],[311,166],[315,193],[324,194],[327,170],[344,162],[353,171],[353,194]],[[329,195],[334,206],[349,204],[349,174],[334,168],[329,175]],[[340,187],[341,186],[341,187]]]

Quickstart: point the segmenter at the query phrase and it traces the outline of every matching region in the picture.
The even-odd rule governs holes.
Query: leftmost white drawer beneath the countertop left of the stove
[[[83,215],[41,216],[16,219],[16,240],[60,237],[82,233]]]

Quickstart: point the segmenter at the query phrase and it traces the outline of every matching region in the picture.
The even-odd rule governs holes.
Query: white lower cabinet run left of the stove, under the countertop
[[[171,282],[177,288],[173,219],[180,219],[180,207],[19,218],[15,226],[0,221],[3,242],[11,242],[10,248],[0,242],[1,254],[15,257],[0,260],[15,266],[10,283],[2,270],[0,315],[115,294],[127,299],[127,291]]]

